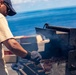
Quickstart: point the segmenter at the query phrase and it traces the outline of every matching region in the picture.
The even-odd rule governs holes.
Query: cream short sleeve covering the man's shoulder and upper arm
[[[0,14],[0,42],[3,42],[9,38],[13,38],[13,35],[9,29],[6,18]]]

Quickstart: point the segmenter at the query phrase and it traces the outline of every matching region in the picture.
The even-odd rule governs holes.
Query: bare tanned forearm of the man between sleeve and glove
[[[3,41],[3,44],[14,54],[22,58],[25,57],[28,53],[15,39],[5,40]]]

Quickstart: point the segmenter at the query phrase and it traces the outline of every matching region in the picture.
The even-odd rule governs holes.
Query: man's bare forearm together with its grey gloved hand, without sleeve
[[[37,51],[29,52],[25,50],[14,38],[5,40],[2,42],[9,50],[11,50],[17,56],[24,59],[32,60],[36,64],[39,64],[42,56]]]

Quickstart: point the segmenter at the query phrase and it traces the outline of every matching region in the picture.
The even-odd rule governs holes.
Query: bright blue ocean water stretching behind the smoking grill
[[[14,36],[35,35],[35,27],[43,27],[45,23],[75,28],[76,7],[22,12],[7,20]]]

